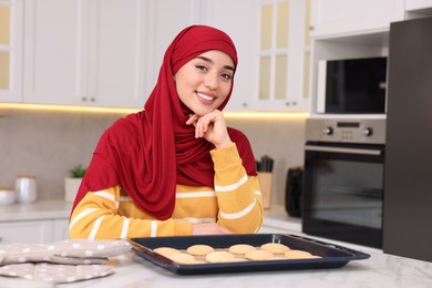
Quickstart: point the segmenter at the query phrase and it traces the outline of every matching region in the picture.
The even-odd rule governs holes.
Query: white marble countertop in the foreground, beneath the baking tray
[[[432,287],[432,264],[373,254],[336,269],[176,275],[131,254],[113,260],[112,276],[58,287]]]

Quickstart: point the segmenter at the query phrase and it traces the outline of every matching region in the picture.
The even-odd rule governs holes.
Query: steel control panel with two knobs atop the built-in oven
[[[385,119],[308,119],[306,141],[385,144]]]

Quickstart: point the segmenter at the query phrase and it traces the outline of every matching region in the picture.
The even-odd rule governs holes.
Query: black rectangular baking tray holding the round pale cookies
[[[186,249],[196,244],[209,245],[215,249],[228,248],[235,244],[258,247],[266,243],[280,243],[291,249],[306,250],[321,258],[181,265],[152,250],[157,247]],[[178,275],[340,268],[350,260],[370,257],[368,254],[339,245],[290,234],[148,237],[133,238],[131,244],[138,256]]]

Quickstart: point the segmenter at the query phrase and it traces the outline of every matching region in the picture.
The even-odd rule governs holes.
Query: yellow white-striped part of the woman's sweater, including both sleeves
[[[256,233],[263,223],[258,177],[248,176],[236,145],[210,152],[215,187],[177,185],[175,208],[167,220],[140,209],[122,187],[88,193],[70,220],[71,238],[130,239],[192,235],[193,223],[216,222],[233,233]]]

